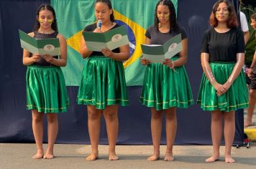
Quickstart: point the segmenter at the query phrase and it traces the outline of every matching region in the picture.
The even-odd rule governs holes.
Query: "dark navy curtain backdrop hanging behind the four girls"
[[[31,111],[26,110],[25,73],[22,64],[22,49],[18,29],[32,32],[37,7],[50,1],[0,1],[0,143],[34,143]],[[199,50],[213,0],[179,0],[178,22],[188,34],[188,63],[186,69],[196,101],[201,81]],[[237,1],[234,0],[237,5]],[[237,9],[237,7],[236,7]],[[60,32],[61,33],[61,32]],[[70,97],[68,112],[58,115],[59,132],[57,143],[89,143],[86,106],[76,104],[78,87],[67,87]],[[152,144],[150,132],[150,109],[140,105],[141,87],[127,87],[129,107],[119,108],[119,145]],[[211,115],[198,105],[178,109],[176,145],[211,145]],[[236,113],[236,135],[234,143],[243,140],[243,111]],[[45,122],[44,142],[47,142]],[[163,120],[165,144],[165,121]],[[104,120],[101,125],[101,144],[107,143]]]

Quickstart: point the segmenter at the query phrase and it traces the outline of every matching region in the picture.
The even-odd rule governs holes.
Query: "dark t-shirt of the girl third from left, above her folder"
[[[164,44],[167,42],[170,38],[175,37],[175,35],[181,34],[181,39],[186,39],[187,34],[185,32],[185,29],[178,26],[178,29],[176,32],[173,30],[170,30],[168,33],[162,33],[157,31],[155,26],[150,26],[147,29],[147,32],[145,33],[145,36],[150,39],[150,44]]]

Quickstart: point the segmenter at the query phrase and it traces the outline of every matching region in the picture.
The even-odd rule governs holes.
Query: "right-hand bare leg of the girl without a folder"
[[[231,157],[231,148],[234,141],[235,122],[234,111],[224,112],[224,138],[225,138],[225,161],[226,163],[234,163]]]

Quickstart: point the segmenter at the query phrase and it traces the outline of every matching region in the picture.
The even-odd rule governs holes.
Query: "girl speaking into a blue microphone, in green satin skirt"
[[[96,0],[96,23],[101,20],[101,28],[96,23],[86,26],[86,32],[107,32],[119,25],[114,23],[114,14],[109,0]],[[102,49],[93,52],[86,47],[86,39],[81,40],[81,55],[86,59],[81,84],[78,90],[78,104],[87,105],[88,132],[91,140],[91,155],[86,160],[96,160],[99,155],[99,133],[101,115],[106,121],[109,139],[109,160],[118,160],[116,156],[116,138],[118,133],[118,104],[128,105],[127,89],[122,61],[129,57],[129,46],[114,50]]]

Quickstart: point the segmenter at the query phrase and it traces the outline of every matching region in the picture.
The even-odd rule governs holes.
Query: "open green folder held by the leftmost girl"
[[[60,55],[60,42],[58,38],[35,39],[19,30],[19,39],[22,48],[32,54]]]

